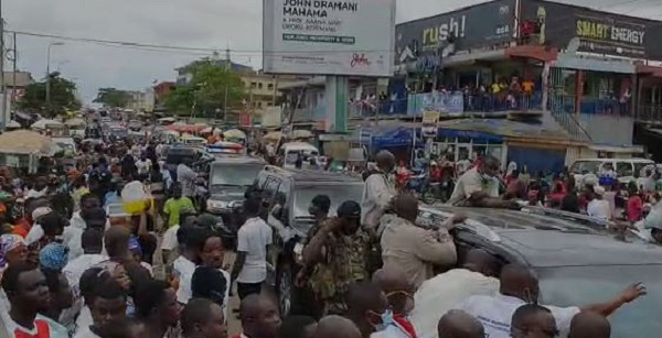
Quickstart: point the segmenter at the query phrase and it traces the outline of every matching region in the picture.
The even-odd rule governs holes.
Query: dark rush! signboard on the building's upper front
[[[396,64],[433,70],[452,53],[503,46],[514,40],[515,0],[496,0],[401,23],[395,28]]]

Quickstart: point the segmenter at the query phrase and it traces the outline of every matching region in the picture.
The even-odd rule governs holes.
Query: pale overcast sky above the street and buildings
[[[396,0],[397,22],[442,13],[484,0]],[[260,68],[261,0],[4,0],[9,31],[168,46],[231,48],[234,62]],[[662,20],[660,0],[559,0]],[[12,45],[11,36],[8,45]],[[18,68],[41,79],[56,39],[18,35]],[[235,52],[236,51],[236,52]],[[143,90],[174,80],[174,68],[207,52],[156,52],[64,42],[51,48],[51,69],[73,79],[85,102],[100,87]],[[7,64],[6,67],[11,67]]]

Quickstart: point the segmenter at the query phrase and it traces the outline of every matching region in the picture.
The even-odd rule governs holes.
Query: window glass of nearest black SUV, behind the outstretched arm
[[[605,265],[545,268],[538,270],[544,304],[581,306],[604,303],[633,282],[648,294],[609,316],[612,337],[660,337],[662,320],[662,265]]]

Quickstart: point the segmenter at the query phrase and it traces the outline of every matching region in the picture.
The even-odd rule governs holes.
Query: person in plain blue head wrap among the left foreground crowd
[[[39,266],[46,276],[51,292],[51,308],[42,315],[58,320],[63,309],[72,307],[74,294],[62,269],[67,263],[68,248],[58,242],[51,242],[39,251]]]

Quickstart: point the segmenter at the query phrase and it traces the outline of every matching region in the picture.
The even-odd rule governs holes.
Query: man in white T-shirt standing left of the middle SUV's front
[[[267,279],[267,247],[271,244],[271,228],[259,217],[259,200],[246,199],[246,222],[237,233],[237,257],[232,281],[237,281],[239,299],[259,294]]]

